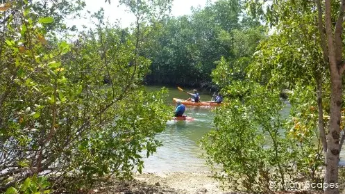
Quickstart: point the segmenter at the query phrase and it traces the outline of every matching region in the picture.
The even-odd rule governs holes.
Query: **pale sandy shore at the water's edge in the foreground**
[[[133,181],[109,181],[87,194],[243,194],[223,191],[210,172],[136,174]],[[274,194],[321,194],[321,191],[277,191]]]

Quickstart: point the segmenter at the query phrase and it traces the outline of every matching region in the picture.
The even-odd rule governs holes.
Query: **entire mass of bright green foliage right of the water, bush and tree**
[[[216,177],[232,188],[253,192],[286,190],[292,189],[287,182],[302,178],[314,183],[324,181],[317,188],[338,193],[339,152],[345,139],[345,3],[249,0],[246,5],[253,15],[274,28],[249,55],[250,60],[240,66],[246,67],[240,71],[246,79],[233,79],[235,68],[230,67],[227,58],[222,58],[212,72],[213,81],[223,84],[222,92],[230,106],[217,110],[214,121],[218,130],[203,139],[206,159],[216,167]],[[289,91],[291,111],[286,125],[278,120],[281,113],[276,90]],[[255,111],[257,106],[264,112]],[[276,122],[277,135],[267,134],[266,128],[276,127]],[[247,141],[249,136],[256,138]],[[262,137],[271,138],[271,144],[265,147]],[[270,156],[275,152],[273,159]],[[239,157],[235,153],[242,154]],[[286,157],[283,159],[280,154]],[[219,170],[221,176],[217,174]],[[269,181],[275,181],[274,188],[270,188]]]

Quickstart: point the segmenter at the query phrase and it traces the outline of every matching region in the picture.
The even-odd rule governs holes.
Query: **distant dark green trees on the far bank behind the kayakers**
[[[192,15],[167,18],[154,47],[146,51],[152,60],[146,81],[208,86],[215,62],[222,56],[243,63],[248,50],[264,36],[260,23],[243,10],[241,1],[220,0],[194,9]]]

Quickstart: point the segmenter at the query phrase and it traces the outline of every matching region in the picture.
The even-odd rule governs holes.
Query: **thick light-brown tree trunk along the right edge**
[[[327,38],[328,62],[330,70],[330,131],[327,135],[326,172],[324,193],[339,193],[338,163],[339,136],[342,109],[342,23],[344,22],[345,1],[339,7],[339,15],[333,31],[331,1],[325,1],[325,26]],[[322,44],[321,44],[322,45]],[[326,52],[323,50],[323,52]]]

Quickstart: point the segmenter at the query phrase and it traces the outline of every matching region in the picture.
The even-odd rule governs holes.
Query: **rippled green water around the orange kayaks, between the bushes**
[[[159,90],[158,86],[146,87],[146,90]],[[185,90],[190,88],[183,88]],[[172,98],[187,99],[189,96],[180,92],[177,88],[169,88],[169,99],[171,111],[174,111],[175,104]],[[201,93],[201,99],[208,101],[211,96]],[[144,159],[145,168],[143,172],[177,172],[177,171],[205,171],[210,170],[201,157],[202,151],[198,141],[208,131],[214,129],[212,108],[201,108],[198,106],[187,106],[185,115],[194,118],[193,121],[168,121],[167,128],[156,138],[161,140],[163,145],[158,147],[157,152]]]

